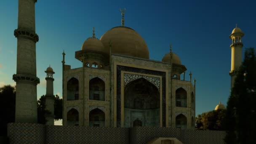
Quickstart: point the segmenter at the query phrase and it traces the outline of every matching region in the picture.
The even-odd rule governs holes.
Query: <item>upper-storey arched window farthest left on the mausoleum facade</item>
[[[72,77],[67,82],[67,101],[79,99],[79,81]]]

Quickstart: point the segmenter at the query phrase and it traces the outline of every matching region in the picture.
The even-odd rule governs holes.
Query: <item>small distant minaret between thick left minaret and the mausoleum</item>
[[[46,95],[45,95],[45,109],[51,112],[51,114],[46,115],[46,124],[54,125],[54,95],[53,95],[53,69],[49,66],[46,71]]]

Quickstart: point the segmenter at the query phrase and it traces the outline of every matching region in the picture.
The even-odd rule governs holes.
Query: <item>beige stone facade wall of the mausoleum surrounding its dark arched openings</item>
[[[134,75],[143,75],[145,77],[156,77],[160,78],[160,81],[165,80],[165,83],[160,83],[160,99],[165,101],[165,105],[163,105],[162,101],[160,102],[162,105],[160,106],[160,111],[165,109],[165,114],[162,112],[159,113],[160,115],[160,126],[163,127],[175,127],[175,117],[176,115],[183,114],[187,117],[187,125],[188,128],[191,127],[191,117],[195,119],[195,111],[191,109],[191,99],[190,93],[194,91],[193,85],[189,81],[184,80],[173,80],[172,89],[171,89],[171,65],[168,63],[163,63],[161,61],[153,61],[147,59],[138,59],[133,57],[127,56],[120,56],[120,55],[112,55],[111,61],[111,72],[108,69],[97,69],[97,68],[90,68],[90,67],[81,67],[76,69],[66,69],[64,71],[64,121],[63,124],[67,125],[67,112],[70,109],[76,109],[79,112],[79,125],[89,126],[89,113],[93,109],[101,109],[105,113],[105,126],[106,127],[123,127],[125,125],[125,112],[123,101],[120,101],[122,106],[117,108],[117,91],[118,87],[120,88],[120,99],[124,98],[124,72],[121,71],[121,82],[117,85],[117,66],[122,67],[131,67],[142,69],[142,71],[146,69],[149,71],[155,72],[162,72],[165,73],[165,76],[162,77],[161,75],[155,74],[145,74],[141,72],[126,72],[128,74]],[[79,80],[79,99],[67,101],[67,82],[72,77],[75,77]],[[89,82],[92,78],[99,77],[105,83],[105,100],[93,100],[89,99]],[[111,79],[111,96],[110,94],[110,79]],[[122,87],[123,85],[123,87]],[[177,88],[184,88],[187,91],[187,108],[184,107],[175,107],[175,91]],[[163,90],[163,91],[162,91]],[[172,96],[171,97],[171,91]],[[162,93],[164,94],[162,97]],[[100,93],[100,96],[103,93]],[[102,96],[101,96],[102,97]],[[118,109],[121,109],[121,123],[117,125],[117,113]],[[164,115],[164,117],[163,117]],[[128,117],[128,115],[126,115]],[[153,117],[153,116],[150,116]],[[162,120],[165,119],[165,120]],[[194,120],[195,122],[195,120]],[[131,123],[131,122],[128,122]],[[158,123],[158,122],[157,122]],[[166,124],[166,125],[165,125]]]

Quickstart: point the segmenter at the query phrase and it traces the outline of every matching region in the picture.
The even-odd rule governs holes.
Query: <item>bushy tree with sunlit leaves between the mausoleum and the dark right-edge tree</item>
[[[200,130],[225,130],[225,109],[203,112],[202,115],[197,115],[196,125]]]

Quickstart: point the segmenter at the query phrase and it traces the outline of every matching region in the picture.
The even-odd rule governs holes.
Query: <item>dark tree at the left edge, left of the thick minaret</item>
[[[16,86],[0,87],[0,136],[7,135],[7,123],[15,121]]]

